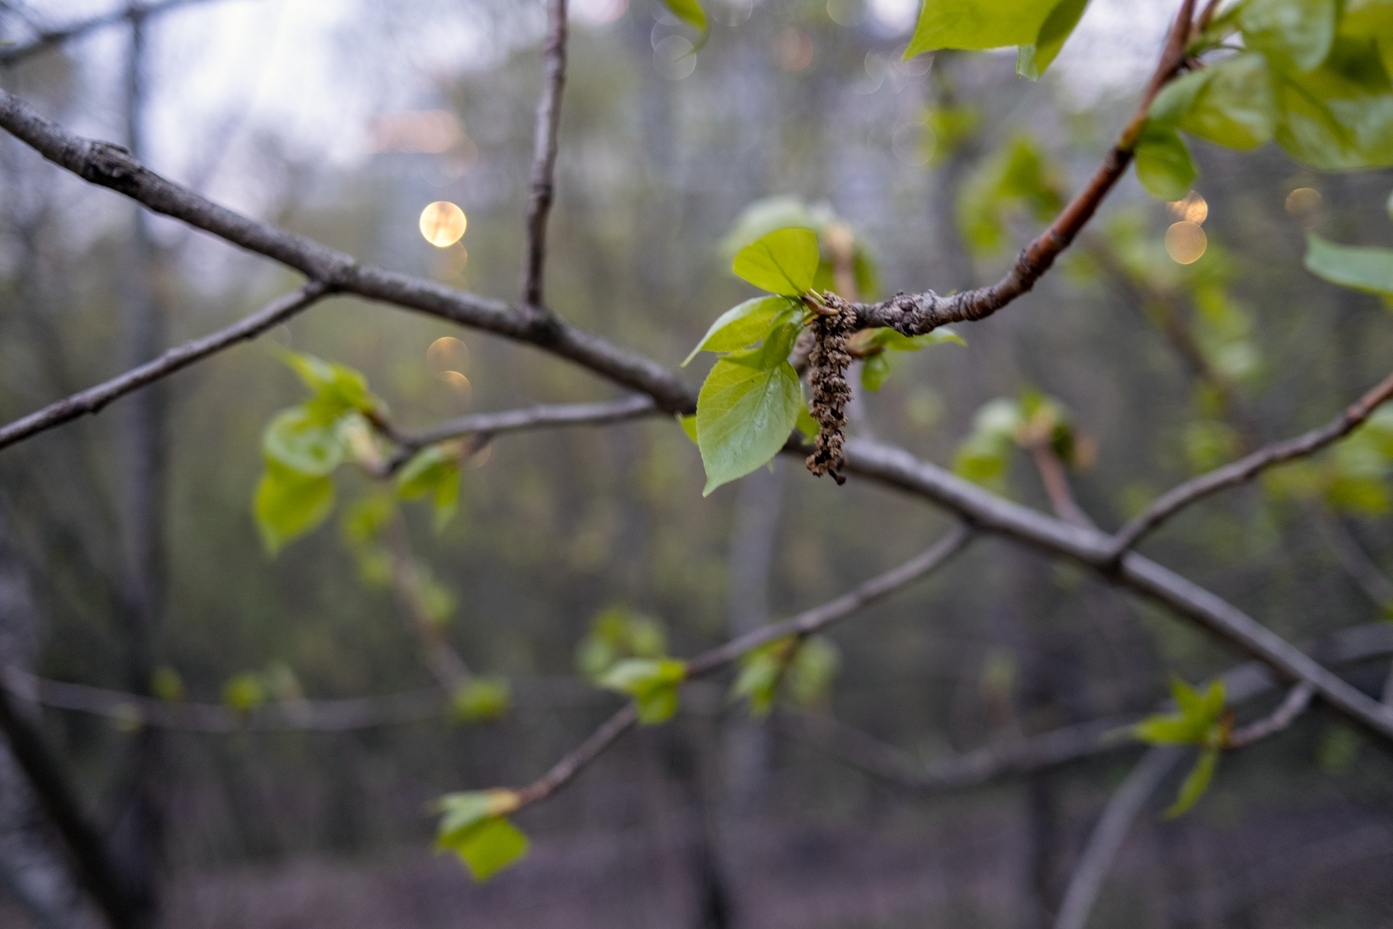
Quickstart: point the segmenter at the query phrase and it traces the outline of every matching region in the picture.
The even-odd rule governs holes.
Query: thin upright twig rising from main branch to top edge
[[[532,197],[527,208],[522,305],[545,312],[542,286],[546,271],[546,219],[556,195],[556,134],[561,124],[561,91],[566,89],[566,0],[546,0],[546,43],[542,46],[542,59],[546,66],[532,144]]]

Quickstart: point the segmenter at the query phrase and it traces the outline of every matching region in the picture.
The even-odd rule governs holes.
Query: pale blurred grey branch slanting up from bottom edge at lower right
[[[1166,774],[1184,756],[1183,748],[1166,746],[1148,750],[1113,792],[1068,879],[1064,902],[1060,904],[1059,915],[1055,918],[1055,929],[1084,929],[1088,914],[1094,909],[1094,901],[1098,900],[1098,891],[1103,889],[1103,879],[1112,870],[1133,822]]]

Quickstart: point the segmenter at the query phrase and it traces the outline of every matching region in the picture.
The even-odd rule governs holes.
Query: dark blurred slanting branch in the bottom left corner
[[[102,834],[86,820],[68,778],[39,732],[15,711],[4,686],[0,686],[0,732],[4,732],[10,753],[72,852],[82,884],[102,908],[111,929],[142,929],[135,901],[127,893],[121,872]]]

